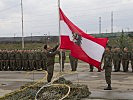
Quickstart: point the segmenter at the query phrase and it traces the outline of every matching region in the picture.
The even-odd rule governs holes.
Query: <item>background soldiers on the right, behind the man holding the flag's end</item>
[[[128,51],[128,48],[125,47],[121,50],[118,47],[115,47],[111,50],[112,63],[114,66],[114,72],[120,71],[121,64],[123,67],[123,72],[128,72],[129,63],[131,62],[131,69],[133,72],[133,49]],[[93,72],[93,66],[90,65],[90,72]]]

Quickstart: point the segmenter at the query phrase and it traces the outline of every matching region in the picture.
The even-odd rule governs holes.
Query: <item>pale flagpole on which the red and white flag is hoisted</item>
[[[60,32],[60,0],[58,0],[58,14],[59,14],[59,44],[61,44],[61,32]],[[62,72],[62,50],[60,50],[60,72]]]

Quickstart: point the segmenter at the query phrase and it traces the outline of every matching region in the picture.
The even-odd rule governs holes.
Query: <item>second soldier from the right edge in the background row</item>
[[[122,52],[122,66],[124,72],[128,72],[130,56],[131,53],[128,51],[128,48],[125,47]]]

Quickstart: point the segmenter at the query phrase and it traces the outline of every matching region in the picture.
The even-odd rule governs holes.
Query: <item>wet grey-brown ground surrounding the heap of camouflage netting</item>
[[[55,64],[55,76],[59,72],[59,64]],[[70,65],[65,64],[65,72],[68,72],[64,77],[74,83],[88,85],[91,95],[90,99],[128,99],[133,100],[133,73],[131,66],[129,72],[112,72],[112,89],[105,91],[106,82],[104,79],[104,71],[89,72],[89,65],[79,63],[77,73],[71,73]],[[43,71],[26,72],[26,71],[1,71],[0,72],[0,96],[10,93],[27,82],[33,82],[42,79],[46,74]]]

